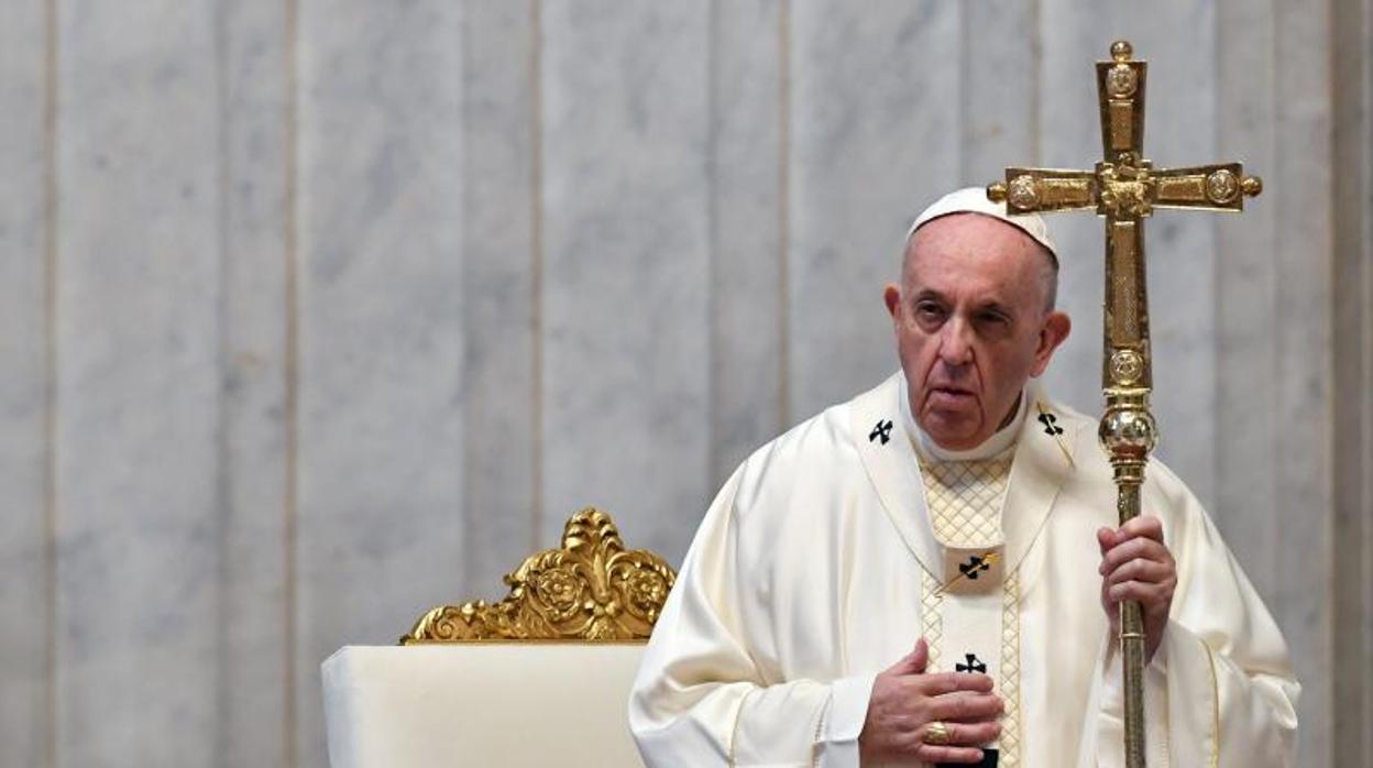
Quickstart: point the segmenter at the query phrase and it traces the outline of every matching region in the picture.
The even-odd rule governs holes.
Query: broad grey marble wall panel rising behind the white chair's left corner
[[[301,3],[297,754],[319,665],[452,600],[463,552],[463,29]]]

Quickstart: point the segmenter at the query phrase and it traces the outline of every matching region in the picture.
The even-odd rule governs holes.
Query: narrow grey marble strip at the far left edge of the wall
[[[49,734],[44,5],[0,7],[0,764],[47,765]]]

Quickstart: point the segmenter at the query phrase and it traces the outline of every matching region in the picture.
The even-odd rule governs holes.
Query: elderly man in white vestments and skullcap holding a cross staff
[[[1153,462],[1115,528],[1094,419],[1034,382],[1056,282],[1043,223],[980,190],[917,217],[901,374],[761,448],[702,522],[630,701],[649,765],[1116,765],[1126,599],[1149,764],[1291,764],[1299,686],[1215,526]]]

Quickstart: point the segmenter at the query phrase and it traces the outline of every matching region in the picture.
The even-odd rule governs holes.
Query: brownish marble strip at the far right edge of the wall
[[[1333,4],[1337,765],[1373,750],[1373,1]]]

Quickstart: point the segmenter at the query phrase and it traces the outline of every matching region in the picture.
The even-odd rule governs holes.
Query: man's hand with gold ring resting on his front
[[[991,692],[991,677],[967,672],[925,673],[930,646],[916,648],[877,675],[868,701],[858,747],[865,763],[909,760],[921,763],[972,763],[982,760],[984,745],[1001,734],[1004,705]],[[943,723],[947,743],[927,743],[930,725]]]

